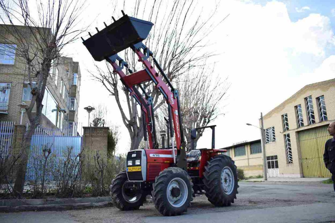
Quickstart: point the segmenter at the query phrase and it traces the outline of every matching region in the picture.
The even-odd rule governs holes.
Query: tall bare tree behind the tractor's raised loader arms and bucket
[[[207,52],[205,48],[206,37],[224,19],[216,23],[212,22],[217,5],[214,5],[208,17],[202,18],[201,10],[198,10],[198,5],[192,0],[157,0],[151,7],[148,7],[146,3],[147,1],[137,0],[133,6],[126,7],[124,2],[123,9],[130,16],[154,23],[153,30],[144,44],[158,59],[170,81],[197,66],[203,66],[201,61],[215,55],[213,52]],[[143,69],[142,65],[137,62],[137,56],[131,50],[125,50],[123,58],[133,71]],[[129,96],[127,89],[121,88],[123,93],[120,92],[119,77],[111,70],[109,64],[106,63],[105,68],[96,65],[96,71],[90,73],[115,97],[131,139],[130,150],[137,149],[143,138],[143,124],[136,101]],[[144,88],[153,97],[154,110],[165,103],[165,99],[152,83],[144,84]],[[121,94],[124,94],[126,98],[126,106],[121,103]]]

